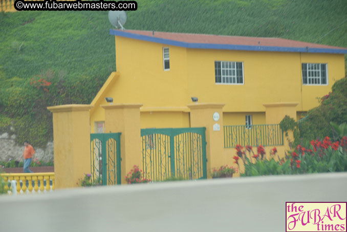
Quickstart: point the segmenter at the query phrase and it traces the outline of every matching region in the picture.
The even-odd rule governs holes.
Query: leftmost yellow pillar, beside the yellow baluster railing
[[[56,189],[77,187],[91,171],[91,105],[47,107],[53,113],[54,173]]]

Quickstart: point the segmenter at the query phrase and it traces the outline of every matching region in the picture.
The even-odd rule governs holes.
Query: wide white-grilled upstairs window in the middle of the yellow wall
[[[243,62],[214,61],[215,83],[243,84]]]

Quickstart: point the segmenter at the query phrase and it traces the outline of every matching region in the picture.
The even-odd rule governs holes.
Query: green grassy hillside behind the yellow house
[[[126,29],[281,37],[347,47],[346,0],[137,2],[138,10],[127,12]],[[45,146],[52,140],[47,106],[92,101],[116,70],[107,13],[0,13],[0,131],[12,126],[18,143],[27,137]],[[51,84],[41,85],[43,80]]]

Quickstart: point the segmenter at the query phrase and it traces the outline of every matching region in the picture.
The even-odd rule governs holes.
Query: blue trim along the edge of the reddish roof
[[[243,51],[264,51],[264,52],[301,52],[301,53],[337,53],[347,54],[347,49],[321,49],[321,48],[296,48],[296,47],[271,47],[236,44],[216,44],[216,43],[187,43],[171,39],[162,39],[146,35],[118,31],[110,29],[111,35],[118,35],[126,38],[145,40],[149,42],[164,43],[190,49],[218,49],[218,50],[243,50]]]

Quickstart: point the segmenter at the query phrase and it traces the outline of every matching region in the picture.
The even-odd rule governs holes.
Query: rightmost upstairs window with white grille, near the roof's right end
[[[302,84],[304,85],[328,84],[327,64],[302,63]]]

